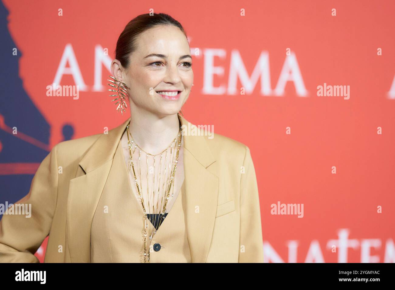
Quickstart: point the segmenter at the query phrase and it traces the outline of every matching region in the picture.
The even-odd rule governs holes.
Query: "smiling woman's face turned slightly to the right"
[[[177,114],[192,88],[191,64],[189,43],[179,28],[156,26],[140,34],[122,73],[134,103],[130,105],[158,116]]]

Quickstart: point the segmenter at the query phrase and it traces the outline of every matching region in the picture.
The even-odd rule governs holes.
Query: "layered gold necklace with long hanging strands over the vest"
[[[178,157],[179,157],[179,151],[181,147],[181,125],[180,129],[178,132],[177,138],[173,140],[173,142],[168,146],[165,150],[160,152],[159,154],[150,154],[148,152],[145,152],[140,146],[136,144],[136,142],[133,139],[132,134],[129,131],[129,125],[126,127],[126,135],[128,136],[128,149],[129,149],[129,162],[128,162],[128,172],[130,169],[133,171],[133,176],[134,176],[134,183],[135,183],[135,188],[137,191],[137,195],[140,198],[141,206],[143,208],[143,221],[144,221],[144,228],[143,228],[143,261],[144,263],[150,261],[150,250],[147,249],[147,237],[151,241],[152,238],[154,237],[156,231],[158,230],[159,226],[163,223],[163,220],[165,219],[167,212],[166,212],[166,206],[167,202],[169,201],[169,196],[170,196],[170,191],[173,189],[173,194],[174,196],[174,180],[175,180],[175,172],[177,169],[177,162],[178,162]],[[129,138],[130,135],[130,138]],[[178,139],[178,142],[177,142]],[[177,144],[177,146],[176,146]],[[135,150],[139,148],[139,180],[140,180],[140,185],[137,180],[136,176],[136,171],[134,168],[134,162],[133,162],[133,155]],[[146,172],[146,178],[147,178],[147,206],[148,206],[148,212],[145,207],[145,201],[143,198],[143,194],[140,189],[142,189],[141,186],[141,152],[146,153],[147,155],[147,172]],[[164,153],[166,152],[165,157],[163,156]],[[167,155],[169,154],[169,165],[167,166]],[[157,182],[157,186],[155,187],[155,157],[160,155],[160,165],[159,165],[159,180]],[[152,176],[152,188],[149,189],[149,174],[148,174],[148,159],[149,156],[152,157],[153,159],[153,176]],[[162,168],[162,159],[163,157],[165,158],[164,164],[164,176],[162,178],[161,182],[161,168]],[[169,169],[167,175],[167,167]],[[171,170],[171,167],[173,167],[173,170]],[[162,190],[162,195],[160,195],[160,190]],[[165,191],[166,190],[166,191]],[[163,191],[165,191],[165,194],[163,194]],[[153,198],[152,202],[150,203],[149,199],[149,192],[152,192]],[[155,195],[157,195],[156,203],[155,203]],[[162,198],[159,198],[159,196],[162,196]],[[160,203],[159,203],[160,202]]]

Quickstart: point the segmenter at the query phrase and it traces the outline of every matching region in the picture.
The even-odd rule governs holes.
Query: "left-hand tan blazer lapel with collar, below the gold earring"
[[[90,262],[90,228],[109,174],[115,150],[130,118],[102,134],[79,162],[70,180],[66,230],[71,262]]]

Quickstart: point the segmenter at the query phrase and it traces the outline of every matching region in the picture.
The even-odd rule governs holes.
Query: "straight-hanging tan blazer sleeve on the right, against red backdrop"
[[[250,149],[247,146],[243,166],[245,172],[241,174],[240,181],[239,263],[263,263],[263,240],[258,184]]]

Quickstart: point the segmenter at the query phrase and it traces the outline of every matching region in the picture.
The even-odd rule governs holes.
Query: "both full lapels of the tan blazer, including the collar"
[[[178,117],[184,138],[187,238],[192,262],[204,263],[213,236],[218,200],[218,176],[209,168],[215,159],[204,132],[180,114]],[[70,180],[66,230],[71,262],[90,262],[93,216],[119,140],[129,122],[130,118],[101,135],[79,162],[76,177]],[[189,130],[196,134],[188,135]]]

